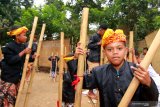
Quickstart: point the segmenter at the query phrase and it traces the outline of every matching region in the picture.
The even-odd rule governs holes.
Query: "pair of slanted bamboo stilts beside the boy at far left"
[[[30,36],[28,48],[32,47],[33,38],[34,38],[35,30],[36,30],[36,27],[37,27],[37,21],[38,21],[38,17],[35,17],[34,22],[33,22],[33,26],[32,26],[32,31],[31,31],[31,36]],[[30,82],[29,82],[29,85],[28,85],[28,88],[27,88],[27,94],[26,94],[26,97],[25,97],[24,107],[27,107],[27,103],[28,103],[28,100],[29,100],[29,91],[32,87],[32,82],[33,82],[33,77],[34,77],[34,74],[35,74],[35,69],[37,68],[38,56],[40,54],[40,49],[41,49],[41,44],[42,44],[42,41],[43,41],[45,27],[46,27],[46,25],[43,24],[40,39],[39,39],[39,43],[38,43],[38,47],[37,47],[37,51],[36,51],[36,58],[35,58],[34,63],[33,63],[33,71],[31,72],[31,78],[30,78]],[[25,78],[26,78],[26,71],[27,71],[29,56],[30,55],[27,54],[26,58],[25,58],[22,79],[21,79],[21,82],[20,82],[20,87],[19,87],[19,90],[18,90],[18,95],[17,95],[17,98],[16,98],[15,107],[19,107],[19,102],[20,102],[20,98],[22,96],[23,86],[24,86]]]

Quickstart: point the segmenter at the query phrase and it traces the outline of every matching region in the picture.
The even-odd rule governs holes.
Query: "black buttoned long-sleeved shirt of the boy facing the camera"
[[[75,63],[75,61],[70,63]],[[117,107],[134,77],[131,65],[134,66],[133,63],[125,61],[119,71],[112,64],[93,68],[91,74],[84,76],[83,88],[98,88],[100,107]],[[75,64],[70,64],[70,68],[72,67],[77,71]],[[156,84],[151,79],[150,87],[139,85],[132,101],[158,101],[158,95]]]

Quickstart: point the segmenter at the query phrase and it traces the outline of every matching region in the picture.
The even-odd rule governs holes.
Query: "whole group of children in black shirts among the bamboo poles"
[[[14,107],[18,88],[22,76],[25,55],[31,53],[24,43],[27,41],[26,27],[13,27],[7,34],[14,39],[2,48],[4,58],[1,62],[2,72],[0,80],[0,106]],[[99,65],[100,47],[109,63]],[[107,29],[105,25],[99,27],[95,36],[91,37],[88,48],[90,49],[88,59],[88,68],[90,72],[84,74],[83,88],[89,89],[89,96],[94,97],[93,89],[99,90],[101,107],[117,107],[126,92],[133,77],[140,81],[140,85],[136,90],[132,101],[158,101],[160,84],[159,74],[151,66],[145,70],[140,63],[140,55],[135,52],[137,62],[128,62],[125,60],[127,54],[126,36],[123,30]],[[63,83],[63,102],[65,107],[72,107],[74,103],[75,90],[72,82],[77,74],[78,55],[86,54],[81,48],[81,44],[77,45],[75,53],[66,60],[68,73]],[[143,54],[143,57],[146,53]],[[33,60],[34,55],[31,55]],[[56,66],[59,58],[51,56],[52,76],[56,75]],[[150,70],[152,69],[152,70]],[[64,75],[65,76],[65,75]],[[68,79],[69,78],[69,79]],[[158,88],[158,89],[157,89]],[[132,105],[132,103],[131,103]]]

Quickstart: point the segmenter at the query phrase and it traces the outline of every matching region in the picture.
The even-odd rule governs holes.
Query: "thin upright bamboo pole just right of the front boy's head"
[[[130,49],[133,49],[134,46],[133,46],[133,31],[130,31],[130,34],[129,34],[129,50]],[[132,55],[132,52],[129,51],[129,61],[130,62],[133,62],[133,55]]]

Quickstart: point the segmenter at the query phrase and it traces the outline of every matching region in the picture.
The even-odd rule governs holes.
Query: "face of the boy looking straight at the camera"
[[[107,56],[109,62],[114,66],[119,66],[124,61],[127,53],[127,48],[124,42],[113,42],[106,45],[104,54]]]

